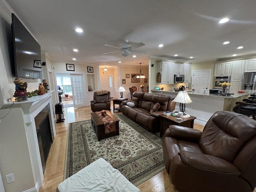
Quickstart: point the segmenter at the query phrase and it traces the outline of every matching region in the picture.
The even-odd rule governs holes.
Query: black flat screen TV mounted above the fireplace
[[[34,37],[12,13],[12,73],[20,78],[42,78],[41,48]]]

